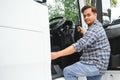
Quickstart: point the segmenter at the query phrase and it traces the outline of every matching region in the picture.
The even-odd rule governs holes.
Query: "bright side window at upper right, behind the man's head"
[[[120,14],[118,11],[120,11],[119,0],[102,0],[103,25],[120,24]]]

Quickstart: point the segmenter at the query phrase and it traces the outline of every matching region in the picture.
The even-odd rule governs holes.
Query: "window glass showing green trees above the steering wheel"
[[[78,24],[77,0],[50,0],[48,1],[49,19],[62,16]]]

